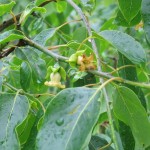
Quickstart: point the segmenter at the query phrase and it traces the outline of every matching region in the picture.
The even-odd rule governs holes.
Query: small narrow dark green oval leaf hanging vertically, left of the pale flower
[[[27,90],[30,87],[32,77],[32,70],[28,62],[23,62],[20,67],[20,85],[23,90]]]

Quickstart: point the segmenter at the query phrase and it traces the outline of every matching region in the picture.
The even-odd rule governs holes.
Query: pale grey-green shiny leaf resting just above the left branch
[[[56,28],[49,28],[40,32],[33,41],[38,43],[39,45],[45,46],[47,40],[52,38],[56,32]]]

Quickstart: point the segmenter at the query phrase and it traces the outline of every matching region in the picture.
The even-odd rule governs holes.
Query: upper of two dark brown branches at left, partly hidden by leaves
[[[43,7],[45,5],[47,5],[50,2],[56,2],[56,0],[48,0],[44,3],[42,3],[41,5],[39,5],[39,7]],[[34,12],[32,13],[32,15],[34,14]],[[16,15],[16,21],[18,22],[20,19],[21,13]],[[3,31],[4,29],[6,29],[7,27],[11,26],[12,24],[14,24],[14,17],[10,18],[9,20],[4,21],[2,24],[0,24],[0,32]]]

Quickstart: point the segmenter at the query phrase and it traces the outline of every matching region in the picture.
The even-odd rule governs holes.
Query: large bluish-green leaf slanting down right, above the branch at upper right
[[[143,47],[128,34],[115,30],[105,30],[100,32],[99,35],[96,33],[94,35],[107,40],[134,64],[140,65],[146,62],[146,54]]]

